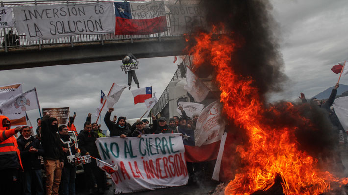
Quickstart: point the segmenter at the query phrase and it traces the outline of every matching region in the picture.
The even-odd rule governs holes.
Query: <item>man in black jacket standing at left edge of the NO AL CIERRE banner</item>
[[[96,139],[99,138],[98,134],[92,130],[92,124],[86,121],[83,125],[83,130],[78,134],[78,147],[81,150],[81,155],[91,155],[94,158],[100,158]],[[83,165],[84,171],[86,173],[87,185],[90,188],[90,192],[94,193],[96,189],[94,188],[92,180],[92,172],[96,178],[99,193],[103,193],[106,187],[104,173],[101,169],[97,167],[96,160],[92,158],[91,163]]]

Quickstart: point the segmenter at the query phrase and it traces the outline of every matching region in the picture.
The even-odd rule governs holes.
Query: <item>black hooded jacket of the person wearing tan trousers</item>
[[[64,162],[64,153],[62,143],[58,135],[58,125],[52,125],[56,118],[50,118],[48,115],[41,120],[41,144],[44,148],[44,159],[60,160]]]

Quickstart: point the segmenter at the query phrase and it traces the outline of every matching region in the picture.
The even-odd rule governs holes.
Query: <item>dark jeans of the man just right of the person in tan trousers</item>
[[[62,170],[61,193],[62,195],[75,195],[76,166],[64,164]]]

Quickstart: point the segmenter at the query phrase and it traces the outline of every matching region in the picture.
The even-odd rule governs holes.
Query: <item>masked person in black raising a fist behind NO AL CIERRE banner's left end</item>
[[[113,123],[110,120],[111,112],[114,111],[114,108],[109,108],[104,117],[104,122],[110,130],[110,137],[120,136],[122,138],[130,137],[132,135],[132,131],[129,129],[126,124],[125,118],[120,116],[117,119],[116,123]]]

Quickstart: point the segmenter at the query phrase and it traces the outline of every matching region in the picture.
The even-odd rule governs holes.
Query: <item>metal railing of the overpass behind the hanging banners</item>
[[[149,2],[151,0],[127,0],[128,2],[142,3]],[[164,1],[165,4],[199,4],[200,0],[160,0]],[[35,1],[11,1],[11,2],[0,2],[2,7],[23,7],[23,6],[36,6],[36,5],[56,5],[56,4],[90,4],[90,3],[105,3],[105,2],[124,2],[124,0],[35,0]],[[167,31],[161,33],[154,33],[149,35],[114,35],[114,34],[103,34],[103,35],[75,35],[70,37],[56,38],[50,40],[40,40],[40,41],[28,41],[26,35],[19,35],[20,45],[12,43],[11,45],[2,45],[5,41],[5,36],[7,36],[8,31],[12,30],[13,34],[18,35],[16,28],[2,28],[0,29],[0,52],[8,51],[8,48],[14,47],[29,47],[36,46],[41,49],[43,45],[55,45],[68,43],[71,47],[74,43],[84,43],[84,42],[100,42],[104,44],[104,41],[109,40],[131,40],[134,39],[146,39],[146,38],[158,38],[160,41],[161,37],[175,37],[181,36],[181,34],[171,34],[170,32],[170,14],[166,7],[167,16]],[[6,46],[6,47],[5,47]]]

